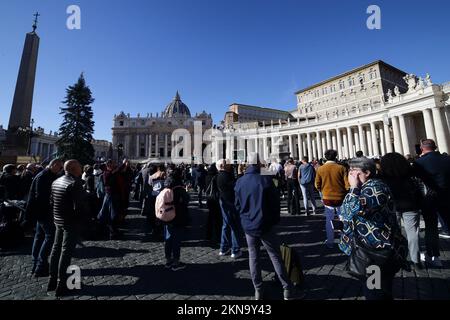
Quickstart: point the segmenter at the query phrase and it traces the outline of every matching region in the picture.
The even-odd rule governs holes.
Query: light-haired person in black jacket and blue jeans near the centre
[[[220,256],[225,256],[231,251],[231,258],[242,256],[239,244],[240,221],[235,207],[233,166],[225,159],[217,161],[217,188],[220,194],[220,208],[222,210],[222,238],[220,241]]]

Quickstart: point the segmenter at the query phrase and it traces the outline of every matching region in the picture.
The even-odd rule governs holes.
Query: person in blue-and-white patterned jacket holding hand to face
[[[326,166],[327,164],[325,164]],[[365,157],[355,158],[349,162],[350,192],[342,204],[341,215],[344,222],[339,248],[351,256],[364,248],[368,261],[364,263],[364,276],[361,281],[366,300],[392,299],[392,282],[395,274],[404,263],[397,259],[397,242],[401,237],[393,211],[393,197],[389,187],[375,179],[375,162]],[[356,245],[356,247],[355,247]],[[380,288],[369,288],[367,284],[367,267],[376,265],[380,268]]]

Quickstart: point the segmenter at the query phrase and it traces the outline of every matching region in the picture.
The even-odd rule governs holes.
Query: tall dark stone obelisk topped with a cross
[[[36,13],[33,31],[27,33],[17,77],[16,90],[9,117],[7,153],[15,156],[27,155],[31,129],[34,80],[39,51],[39,36],[36,34],[39,13]]]

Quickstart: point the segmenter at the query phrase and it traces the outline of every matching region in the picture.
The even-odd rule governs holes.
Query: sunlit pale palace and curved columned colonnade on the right
[[[396,151],[418,153],[420,140],[434,139],[450,150],[449,84],[433,84],[427,74],[407,74],[375,61],[296,92],[297,110],[287,121],[234,122],[216,133],[213,161],[242,161],[237,154],[259,152],[309,159],[335,149],[339,158],[361,150],[370,157]]]

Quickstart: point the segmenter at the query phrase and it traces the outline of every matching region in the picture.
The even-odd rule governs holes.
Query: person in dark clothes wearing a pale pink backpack
[[[156,217],[164,223],[165,267],[172,271],[186,268],[180,262],[181,237],[189,223],[189,195],[183,186],[180,169],[171,169],[165,181],[165,188],[156,198]]]

